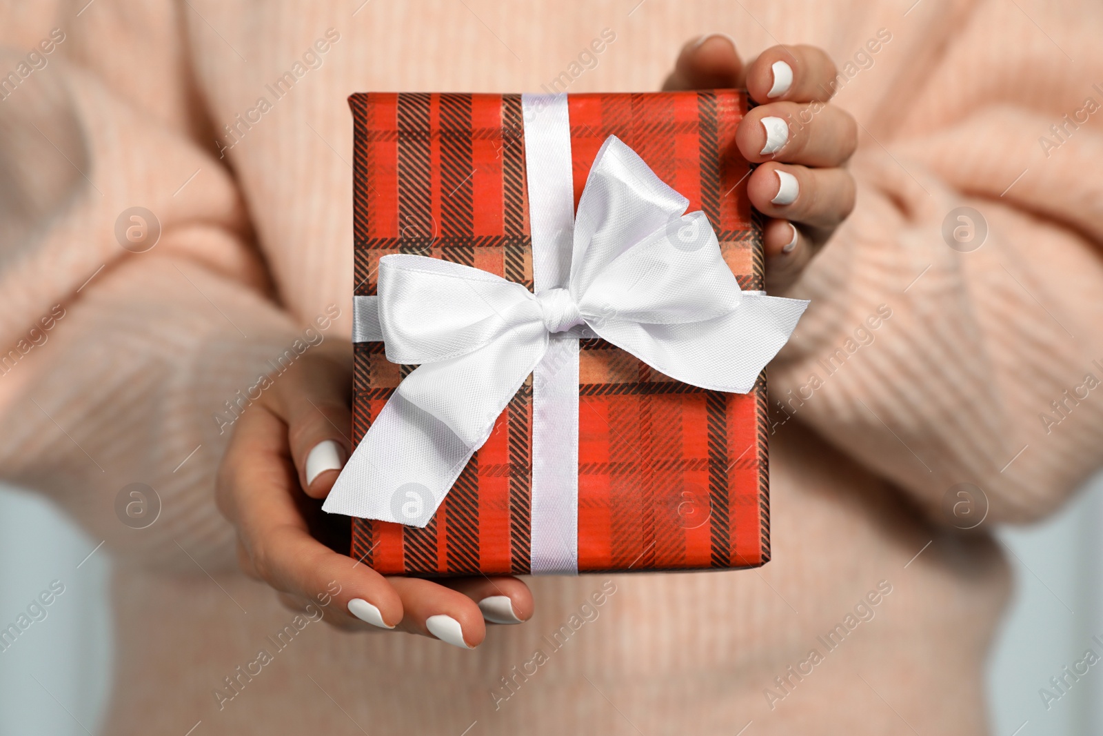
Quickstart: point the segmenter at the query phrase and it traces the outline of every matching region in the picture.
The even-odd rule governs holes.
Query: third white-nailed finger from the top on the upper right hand
[[[835,227],[854,210],[854,179],[846,169],[763,163],[747,182],[751,205],[768,217]]]

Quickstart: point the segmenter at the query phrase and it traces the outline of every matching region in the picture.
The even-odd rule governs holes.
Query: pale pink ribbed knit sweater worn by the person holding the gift
[[[1008,593],[984,532],[1051,511],[1103,446],[1097,2],[86,3],[0,10],[0,474],[115,558],[105,733],[983,733]],[[346,95],[653,89],[706,31],[823,46],[860,124],[857,209],[771,369],[773,562],[537,578],[536,617],[472,652],[277,637],[293,616],[212,501],[213,415],[330,305],[324,338],[350,334]],[[986,223],[967,253],[959,206]],[[120,247],[131,207],[152,249]],[[132,482],[148,529],[116,516]],[[959,482],[988,500],[971,534]]]

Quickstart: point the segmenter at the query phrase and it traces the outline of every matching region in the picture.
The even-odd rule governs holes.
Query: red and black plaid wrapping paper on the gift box
[[[743,289],[762,289],[761,222],[735,146],[737,90],[570,95],[575,204],[610,135],[703,210]],[[356,295],[407,253],[533,288],[521,95],[371,93],[354,118]],[[579,358],[578,569],[752,567],[770,558],[764,373],[747,395],[662,375],[603,340]],[[414,370],[355,345],[353,440]],[[385,574],[529,572],[532,376],[425,529],[353,520],[352,556]]]

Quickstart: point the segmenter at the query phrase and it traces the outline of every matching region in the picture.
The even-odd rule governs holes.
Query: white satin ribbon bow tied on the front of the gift
[[[322,508],[424,527],[552,335],[577,338],[580,326],[683,383],[750,391],[807,302],[741,291],[705,214],[683,214],[688,205],[611,136],[578,204],[567,288],[534,295],[454,263],[381,258],[387,360],[419,367]]]

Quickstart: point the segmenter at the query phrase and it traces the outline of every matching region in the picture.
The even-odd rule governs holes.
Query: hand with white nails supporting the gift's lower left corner
[[[484,618],[527,620],[532,594],[516,578],[384,577],[343,554],[349,519],[323,513],[321,501],[352,448],[351,366],[350,343],[311,348],[237,420],[216,497],[237,529],[242,569],[293,609],[321,604],[342,629],[394,629],[470,649],[486,636]]]

